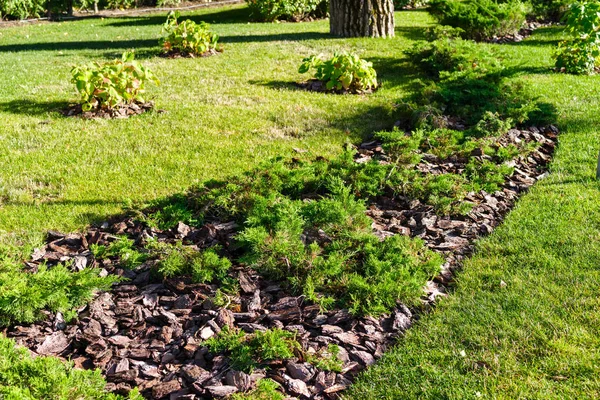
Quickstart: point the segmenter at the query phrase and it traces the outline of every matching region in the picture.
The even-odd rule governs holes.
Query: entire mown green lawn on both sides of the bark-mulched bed
[[[416,90],[402,50],[431,23],[424,12],[401,12],[393,40],[333,39],[325,21],[248,24],[243,7],[188,15],[213,23],[222,55],[158,57],[164,15],[0,30],[1,243],[28,248],[46,229],[81,229],[294,148],[331,155],[389,128],[392,102]],[[600,78],[552,73],[559,38],[544,28],[502,46],[511,79],[558,112],[551,175],[349,398],[600,397]],[[76,100],[71,65],[129,48],[162,80],[150,97],[166,113],[84,121],[56,111]],[[294,89],[303,57],[341,49],[373,61],[382,89],[368,97]]]

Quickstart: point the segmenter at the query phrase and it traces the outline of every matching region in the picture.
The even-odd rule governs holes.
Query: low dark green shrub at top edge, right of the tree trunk
[[[461,28],[464,38],[474,40],[517,33],[527,13],[518,0],[432,0],[429,11],[442,25]]]

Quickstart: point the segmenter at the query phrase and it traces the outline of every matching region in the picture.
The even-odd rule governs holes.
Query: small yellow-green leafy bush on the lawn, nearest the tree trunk
[[[317,56],[308,57],[302,60],[298,72],[304,74],[312,69],[314,78],[324,82],[327,90],[361,92],[377,87],[373,64],[356,54],[335,53],[325,61]]]

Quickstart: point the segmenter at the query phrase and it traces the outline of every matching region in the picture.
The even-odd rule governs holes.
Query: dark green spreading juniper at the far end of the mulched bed
[[[553,109],[533,101],[522,83],[505,80],[496,48],[444,38],[416,45],[407,54],[433,78],[399,104],[399,117],[413,128],[445,128],[444,116],[474,126],[488,112],[517,124],[554,120]]]

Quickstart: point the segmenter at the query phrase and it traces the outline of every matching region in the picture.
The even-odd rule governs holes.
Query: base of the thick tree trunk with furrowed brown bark
[[[342,37],[393,37],[393,0],[331,0],[331,34]]]

